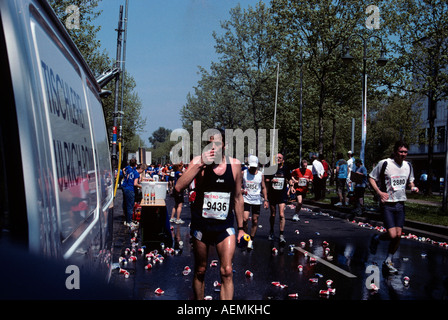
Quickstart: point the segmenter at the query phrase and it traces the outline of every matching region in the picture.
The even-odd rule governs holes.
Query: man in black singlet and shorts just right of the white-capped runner
[[[274,240],[274,224],[276,215],[276,205],[278,205],[279,219],[280,219],[280,244],[286,244],[286,239],[283,234],[285,230],[285,205],[288,201],[288,183],[291,179],[291,173],[286,167],[282,154],[277,155],[277,172],[274,175],[266,176],[266,187],[268,188],[268,201],[271,210],[270,233],[269,240]]]

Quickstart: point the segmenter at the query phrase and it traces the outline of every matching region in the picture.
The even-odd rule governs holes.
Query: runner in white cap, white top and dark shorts
[[[261,199],[263,194],[264,200]],[[250,229],[251,241],[247,244],[248,249],[253,249],[253,239],[257,233],[258,217],[260,216],[260,205],[263,201],[264,208],[269,207],[264,176],[258,170],[258,158],[249,157],[249,168],[243,173],[243,198],[244,198],[244,231],[248,231],[249,214],[252,210],[252,226]]]

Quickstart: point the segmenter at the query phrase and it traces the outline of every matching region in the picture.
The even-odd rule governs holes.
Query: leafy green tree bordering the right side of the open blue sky
[[[210,72],[200,68],[201,80],[181,111],[185,128],[194,120],[208,128],[272,128],[277,42],[271,26],[262,1],[255,8],[230,10],[230,19],[221,23],[223,33],[213,32],[219,61]]]

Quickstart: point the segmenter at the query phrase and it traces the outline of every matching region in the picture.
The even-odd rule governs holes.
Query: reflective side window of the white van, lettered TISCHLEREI
[[[39,13],[31,10],[42,95],[55,165],[57,212],[62,240],[97,207],[97,180],[87,113],[86,85],[79,66]],[[82,232],[82,230],[80,230]]]

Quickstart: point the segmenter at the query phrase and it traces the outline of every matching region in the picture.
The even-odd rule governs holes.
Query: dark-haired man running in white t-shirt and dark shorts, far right
[[[414,185],[414,171],[411,164],[405,161],[409,146],[397,141],[394,146],[394,158],[381,160],[369,175],[369,182],[381,200],[381,211],[387,233],[374,235],[370,243],[370,251],[376,253],[379,240],[389,242],[388,255],[383,263],[390,274],[398,273],[392,258],[400,246],[401,232],[405,219],[406,185],[412,192],[418,192]]]

